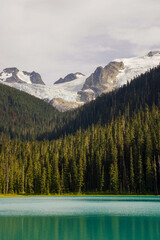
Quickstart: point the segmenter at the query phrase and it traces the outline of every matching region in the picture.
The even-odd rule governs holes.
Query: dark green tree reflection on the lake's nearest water
[[[159,217],[1,217],[1,240],[159,240]]]

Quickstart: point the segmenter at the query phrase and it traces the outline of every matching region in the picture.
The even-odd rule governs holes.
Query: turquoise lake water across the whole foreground
[[[0,240],[160,240],[160,197],[0,198]]]

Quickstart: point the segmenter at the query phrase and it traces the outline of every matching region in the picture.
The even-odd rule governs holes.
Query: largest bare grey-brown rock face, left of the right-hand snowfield
[[[92,94],[93,99],[102,93],[112,91],[116,85],[116,77],[119,71],[123,69],[123,62],[110,62],[104,68],[98,67],[95,72],[86,79],[82,91],[79,92],[81,95],[80,100],[90,99],[91,92],[87,90],[94,92],[94,94]]]

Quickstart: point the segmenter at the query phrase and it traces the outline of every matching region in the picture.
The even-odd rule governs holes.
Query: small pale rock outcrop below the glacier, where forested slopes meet
[[[82,103],[80,104],[80,103],[76,103],[76,102],[68,102],[62,98],[53,98],[49,103],[53,107],[57,108],[60,112],[73,110],[82,105]]]

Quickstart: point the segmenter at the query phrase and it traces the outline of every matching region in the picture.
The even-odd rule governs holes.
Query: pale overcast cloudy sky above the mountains
[[[53,83],[160,49],[159,0],[0,0],[0,70]]]

